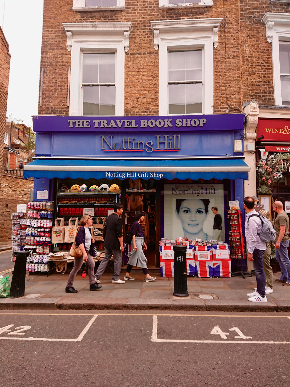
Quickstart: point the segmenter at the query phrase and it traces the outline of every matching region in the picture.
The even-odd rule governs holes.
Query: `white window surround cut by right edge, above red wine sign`
[[[263,16],[266,38],[272,43],[274,99],[276,106],[282,105],[279,42],[290,41],[290,13],[267,12]],[[289,105],[284,105],[289,106]]]

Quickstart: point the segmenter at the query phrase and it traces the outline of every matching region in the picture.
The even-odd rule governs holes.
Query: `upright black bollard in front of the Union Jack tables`
[[[174,296],[187,297],[186,250],[187,246],[174,245]]]

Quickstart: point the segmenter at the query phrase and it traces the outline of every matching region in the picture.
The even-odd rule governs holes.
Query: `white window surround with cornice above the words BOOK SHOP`
[[[218,27],[222,19],[187,19],[152,21],[154,48],[159,49],[159,115],[168,115],[168,51],[202,50],[202,113],[213,114],[213,45],[217,46]]]

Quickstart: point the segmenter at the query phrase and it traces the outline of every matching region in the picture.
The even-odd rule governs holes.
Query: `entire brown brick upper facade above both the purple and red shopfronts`
[[[43,102],[39,114],[69,114],[67,76],[71,54],[62,22],[132,23],[130,49],[125,54],[125,115],[158,115],[158,51],[154,50],[150,28],[150,21],[157,20],[223,19],[218,47],[213,50],[213,113],[225,113],[229,104],[241,108],[251,99],[261,105],[274,104],[271,44],[266,41],[261,19],[266,12],[289,12],[287,3],[214,0],[212,7],[159,9],[158,0],[126,0],[125,10],[90,12],[75,12],[72,5],[73,0],[57,5],[53,0],[44,0]]]

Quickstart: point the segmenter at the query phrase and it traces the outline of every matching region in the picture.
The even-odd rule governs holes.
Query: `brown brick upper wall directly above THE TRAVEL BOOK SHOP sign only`
[[[214,0],[213,3],[213,7],[159,9],[158,0],[126,0],[125,10],[75,12],[72,11],[72,0],[57,4],[53,0],[44,0],[43,103],[39,106],[39,114],[68,115],[69,112],[67,75],[71,53],[67,51],[62,22],[131,22],[130,48],[125,54],[125,115],[158,115],[158,51],[154,50],[150,21],[222,17],[218,47],[213,49],[214,113],[225,113],[230,102],[241,106],[242,61],[237,1]],[[243,3],[245,6],[246,2]]]

